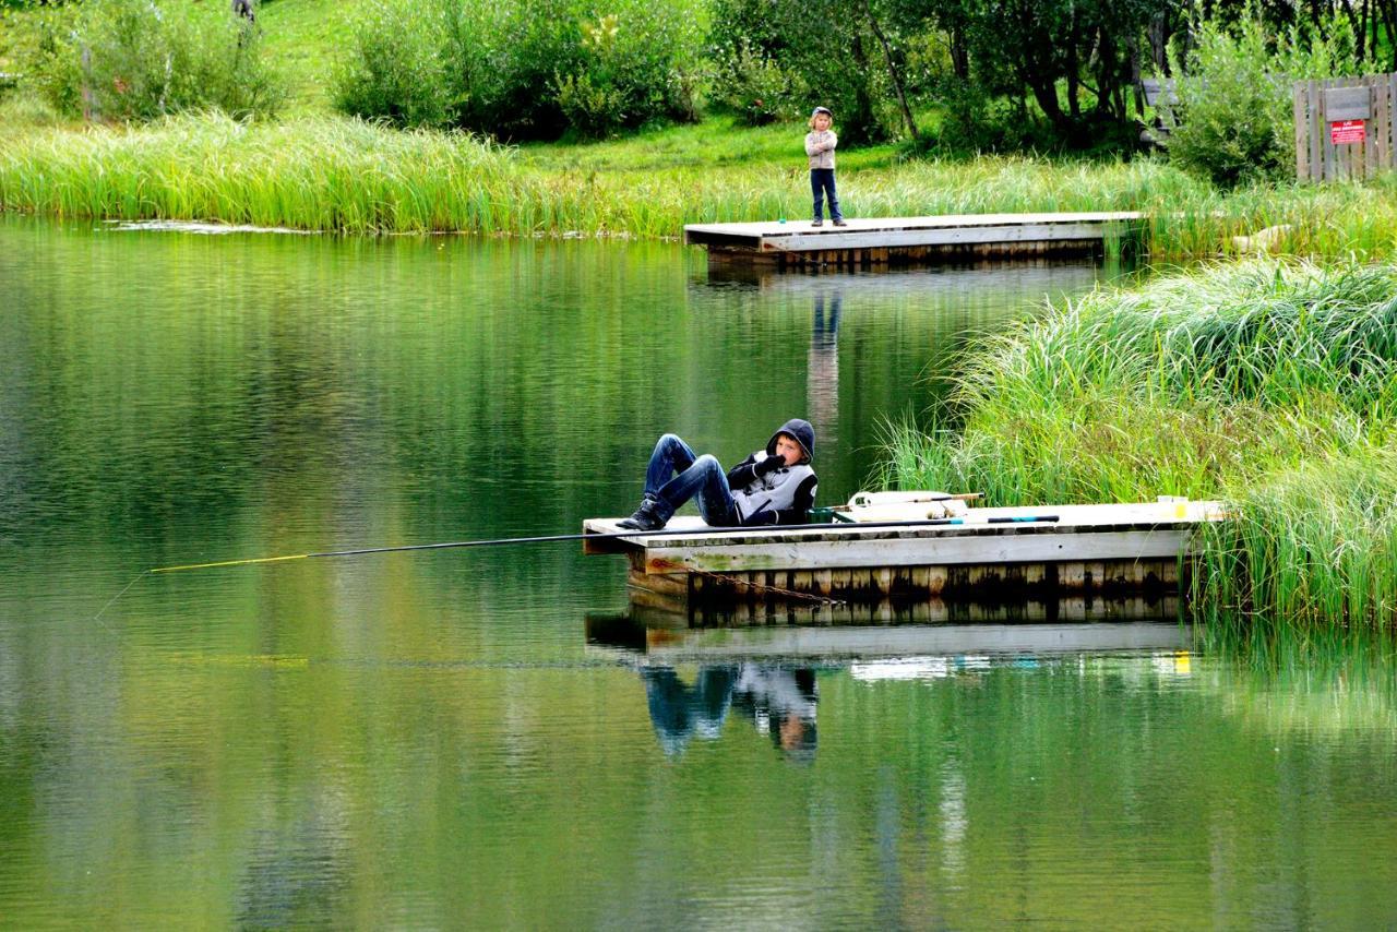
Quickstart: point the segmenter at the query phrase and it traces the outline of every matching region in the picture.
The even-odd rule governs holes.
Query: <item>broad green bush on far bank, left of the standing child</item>
[[[696,113],[703,0],[612,0],[601,15],[585,0],[381,1],[337,74],[348,113],[506,138]]]

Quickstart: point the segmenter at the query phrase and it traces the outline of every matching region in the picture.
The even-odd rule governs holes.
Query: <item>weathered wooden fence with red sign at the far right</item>
[[[1362,179],[1397,168],[1397,74],[1295,82],[1295,175]]]

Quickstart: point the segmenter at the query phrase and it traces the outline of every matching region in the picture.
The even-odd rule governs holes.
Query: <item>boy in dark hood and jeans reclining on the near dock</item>
[[[814,428],[792,418],[757,450],[726,472],[710,454],[701,457],[672,433],[659,437],[645,469],[640,507],[617,527],[658,531],[689,499],[710,527],[805,524],[814,504],[817,479],[810,468]]]

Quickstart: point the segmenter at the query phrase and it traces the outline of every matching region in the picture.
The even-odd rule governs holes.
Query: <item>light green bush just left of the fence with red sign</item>
[[[1365,68],[1370,64],[1356,59],[1340,18],[1317,36],[1292,31],[1274,39],[1256,15],[1235,32],[1207,21],[1192,53],[1175,61],[1179,126],[1169,158],[1222,187],[1287,177],[1295,155],[1292,82]]]

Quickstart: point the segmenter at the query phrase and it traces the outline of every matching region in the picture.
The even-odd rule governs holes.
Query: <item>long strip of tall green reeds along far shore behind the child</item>
[[[685,224],[799,218],[799,134],[725,123],[598,145],[518,150],[464,133],[306,116],[218,113],[145,127],[29,127],[0,136],[0,208],[57,217],[190,219],[339,232],[678,236]],[[791,138],[787,138],[787,137]],[[1249,189],[1221,196],[1158,159],[841,155],[855,217],[1139,210],[1155,261],[1264,249],[1387,257],[1397,187]],[[1245,249],[1250,249],[1243,243]],[[1245,252],[1243,249],[1243,252]]]

